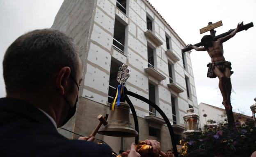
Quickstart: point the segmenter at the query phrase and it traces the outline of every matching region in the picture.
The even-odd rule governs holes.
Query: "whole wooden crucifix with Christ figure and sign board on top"
[[[239,23],[235,29],[232,29],[226,33],[222,33],[220,35],[215,36],[216,31],[214,30],[217,27],[222,26],[222,21],[212,23],[209,22],[207,27],[200,29],[200,33],[205,33],[210,31],[210,35],[204,35],[201,39],[201,42],[197,44],[188,44],[185,49],[182,49],[182,52],[189,51],[191,49],[195,49],[196,51],[207,51],[209,56],[211,57],[211,63],[207,64],[208,73],[207,77],[219,79],[219,89],[223,97],[222,104],[225,107],[226,114],[228,117],[229,126],[233,126],[235,121],[232,112],[232,106],[230,101],[231,95],[231,80],[230,76],[233,74],[231,71],[231,62],[225,60],[223,56],[223,42],[226,42],[239,31],[247,30],[250,27],[253,27],[253,23],[243,24],[243,22]],[[201,47],[198,47],[201,46]]]

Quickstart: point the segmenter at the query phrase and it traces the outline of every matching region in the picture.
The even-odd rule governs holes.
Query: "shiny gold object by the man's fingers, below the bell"
[[[140,141],[139,144],[135,146],[135,150],[141,157],[151,157],[153,155],[153,147],[147,145],[145,141]]]

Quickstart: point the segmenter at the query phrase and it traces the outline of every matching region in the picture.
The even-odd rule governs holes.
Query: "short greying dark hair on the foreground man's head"
[[[75,78],[78,54],[71,38],[52,29],[25,33],[5,53],[3,75],[6,92],[37,91],[64,66],[71,68],[71,77]]]

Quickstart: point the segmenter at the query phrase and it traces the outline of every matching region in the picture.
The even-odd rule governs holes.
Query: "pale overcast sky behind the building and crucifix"
[[[0,97],[5,97],[2,60],[7,47],[27,31],[50,28],[63,0],[0,0]],[[186,44],[200,42],[199,29],[208,22],[222,20],[216,35],[235,29],[238,22],[256,22],[255,0],[149,0]],[[254,23],[255,24],[255,23]],[[232,63],[233,111],[251,115],[249,106],[256,97],[256,27],[237,33],[224,45],[224,57]],[[210,57],[204,51],[192,51],[192,68],[198,103],[222,107],[218,79],[206,77]]]

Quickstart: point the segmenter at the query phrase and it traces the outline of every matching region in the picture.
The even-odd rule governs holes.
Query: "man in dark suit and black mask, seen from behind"
[[[82,81],[71,38],[51,29],[21,35],[5,53],[3,75],[7,96],[0,99],[0,156],[112,156],[105,144],[86,137],[69,140],[57,132],[76,111]],[[159,142],[150,143],[160,152]],[[128,157],[140,156],[134,148]]]

